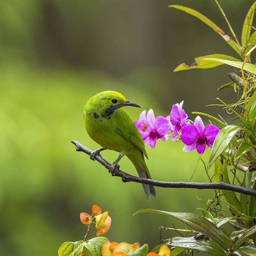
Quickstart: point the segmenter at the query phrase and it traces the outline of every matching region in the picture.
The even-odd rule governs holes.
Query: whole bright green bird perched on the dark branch
[[[102,150],[114,150],[119,152],[119,156],[111,165],[110,172],[113,173],[116,167],[119,167],[117,163],[126,155],[132,161],[140,177],[151,179],[144,160],[144,155],[148,158],[144,142],[132,119],[122,109],[124,106],[140,108],[138,104],[126,100],[121,93],[114,91],[100,92],[85,104],[86,131],[92,140],[102,147],[92,152],[91,159],[95,160],[95,156]],[[147,197],[150,194],[156,196],[154,186],[142,185]]]

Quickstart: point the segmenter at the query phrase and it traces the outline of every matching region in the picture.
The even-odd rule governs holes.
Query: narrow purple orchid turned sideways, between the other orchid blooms
[[[179,103],[172,105],[172,110],[170,113],[170,120],[172,123],[172,138],[177,136],[177,133],[180,132],[181,128],[187,125],[188,115],[185,113],[184,109],[182,109],[184,100]]]

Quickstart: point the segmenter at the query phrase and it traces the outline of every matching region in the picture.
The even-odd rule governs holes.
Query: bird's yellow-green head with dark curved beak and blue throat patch
[[[130,100],[126,100],[121,93],[114,91],[100,92],[93,96],[90,100],[92,100],[94,106],[97,105],[99,110],[108,114],[112,114],[117,108],[124,106],[140,108],[138,104]]]

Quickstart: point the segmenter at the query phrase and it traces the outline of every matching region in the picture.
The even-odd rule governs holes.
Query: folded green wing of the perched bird
[[[145,149],[144,141],[140,136],[140,132],[133,123],[132,119],[123,109],[117,109],[115,111],[116,129],[117,132],[124,137],[125,140],[131,141],[137,148],[139,148],[144,155],[148,158],[148,154]]]

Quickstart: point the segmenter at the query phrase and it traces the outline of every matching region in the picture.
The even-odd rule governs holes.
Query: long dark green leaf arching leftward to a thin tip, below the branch
[[[227,249],[230,248],[232,242],[228,238],[228,236],[219,228],[217,228],[211,221],[207,220],[206,218],[199,216],[195,213],[188,213],[188,212],[165,212],[160,210],[153,210],[153,209],[142,209],[135,213],[133,213],[133,216],[137,213],[141,212],[154,212],[164,215],[172,216],[191,228],[196,229],[197,231],[204,233],[205,235],[212,238],[216,243],[220,244],[221,247]],[[177,246],[180,247],[180,246]]]

